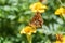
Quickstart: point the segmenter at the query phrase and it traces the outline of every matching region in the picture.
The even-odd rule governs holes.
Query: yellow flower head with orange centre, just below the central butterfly
[[[30,27],[30,26],[26,26],[25,28],[23,28],[22,30],[21,30],[21,34],[22,33],[25,33],[25,34],[31,34],[31,33],[36,33],[36,28],[34,28],[34,27]]]

